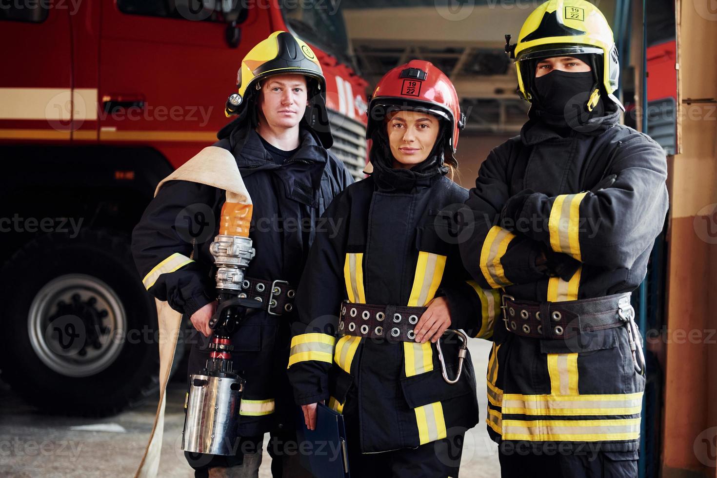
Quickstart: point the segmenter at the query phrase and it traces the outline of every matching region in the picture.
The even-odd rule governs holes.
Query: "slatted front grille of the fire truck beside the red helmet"
[[[366,167],[366,126],[348,116],[331,111],[328,115],[333,134],[331,153],[343,161],[358,181],[364,178]]]

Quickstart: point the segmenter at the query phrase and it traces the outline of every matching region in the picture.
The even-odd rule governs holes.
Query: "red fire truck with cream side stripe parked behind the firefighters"
[[[161,178],[216,140],[244,54],[308,42],[333,152],[366,163],[366,82],[331,0],[0,4],[0,368],[40,408],[113,414],[153,396],[156,312],[129,233]]]

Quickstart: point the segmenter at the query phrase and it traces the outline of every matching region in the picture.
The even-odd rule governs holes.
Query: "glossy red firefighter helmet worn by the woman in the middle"
[[[452,134],[448,139],[455,153],[465,115],[460,112],[453,83],[434,64],[412,59],[381,78],[369,102],[366,138],[370,139],[374,130],[381,127],[387,111],[396,109],[424,111],[445,119],[450,125],[447,131]]]

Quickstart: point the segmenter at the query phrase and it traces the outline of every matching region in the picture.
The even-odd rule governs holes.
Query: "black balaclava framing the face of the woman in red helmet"
[[[385,125],[376,128],[371,134],[373,144],[369,152],[369,160],[374,166],[371,177],[376,186],[382,191],[411,191],[415,186],[429,186],[440,176],[445,176],[448,172],[444,164],[447,125],[447,122],[440,120],[440,130],[428,157],[410,169],[394,168],[394,155],[391,153]]]

